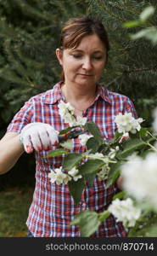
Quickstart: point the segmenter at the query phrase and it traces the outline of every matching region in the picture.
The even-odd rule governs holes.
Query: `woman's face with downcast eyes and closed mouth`
[[[59,63],[64,70],[65,84],[96,84],[105,62],[106,48],[96,34],[82,38],[75,49],[56,50]]]

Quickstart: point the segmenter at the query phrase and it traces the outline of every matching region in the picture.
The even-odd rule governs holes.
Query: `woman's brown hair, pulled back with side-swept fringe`
[[[103,42],[107,49],[107,58],[109,51],[109,38],[104,28],[104,25],[98,18],[91,15],[85,15],[68,20],[62,28],[60,35],[59,48],[60,49],[72,49],[76,48],[81,39],[85,36],[96,34],[98,38]],[[60,79],[64,80],[64,72],[62,71]]]

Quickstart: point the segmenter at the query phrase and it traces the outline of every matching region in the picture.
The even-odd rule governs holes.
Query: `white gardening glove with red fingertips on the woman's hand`
[[[53,126],[36,122],[25,125],[20,132],[20,142],[24,145],[25,152],[49,150],[51,145],[59,142],[58,131]]]

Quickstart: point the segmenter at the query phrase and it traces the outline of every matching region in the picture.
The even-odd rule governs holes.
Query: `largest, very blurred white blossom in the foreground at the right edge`
[[[149,153],[143,160],[133,155],[121,166],[123,189],[137,201],[148,201],[157,208],[157,154]]]

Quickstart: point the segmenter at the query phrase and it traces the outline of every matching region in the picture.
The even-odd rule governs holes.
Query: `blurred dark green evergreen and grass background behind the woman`
[[[124,27],[145,7],[155,15],[141,27]],[[97,15],[109,33],[109,62],[101,84],[132,99],[143,126],[157,106],[157,47],[130,34],[156,26],[154,0],[0,0],[0,138],[14,114],[31,96],[53,88],[60,67],[55,56],[64,21]],[[25,221],[35,186],[33,154],[23,154],[0,176],[0,236],[26,236]]]

